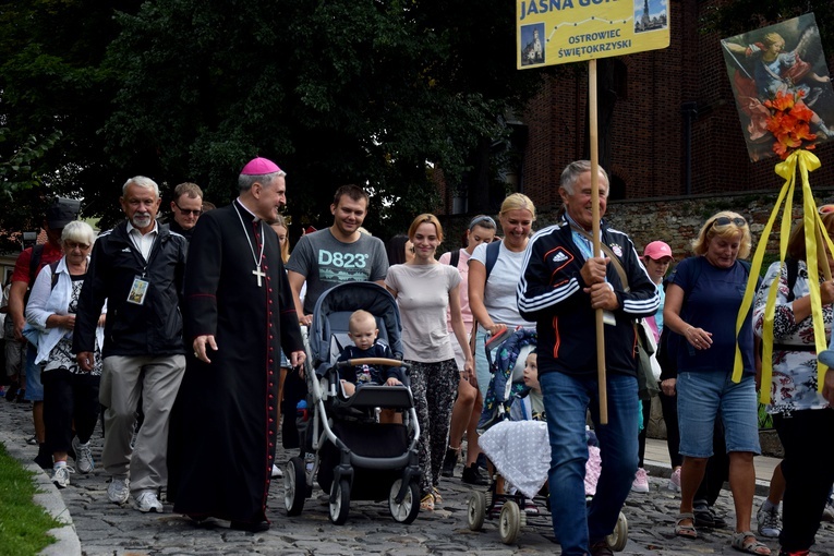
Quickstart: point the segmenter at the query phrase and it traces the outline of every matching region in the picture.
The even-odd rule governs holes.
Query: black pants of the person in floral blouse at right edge
[[[789,418],[773,415],[773,424],[785,448],[779,544],[786,551],[807,551],[814,542],[834,483],[834,444],[830,440],[834,410],[795,411]]]

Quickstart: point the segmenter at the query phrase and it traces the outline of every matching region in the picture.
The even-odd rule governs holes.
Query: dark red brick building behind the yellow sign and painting
[[[606,168],[612,198],[776,191],[782,185],[773,170],[777,159],[749,159],[721,50],[723,37],[699,29],[699,19],[716,1],[669,0],[668,48],[606,60],[616,92]],[[834,56],[829,55],[832,73]],[[597,63],[603,68],[603,60]],[[588,157],[588,73],[582,65],[547,80],[518,114],[527,128],[527,144],[519,145],[518,189],[543,210],[560,204],[556,184],[561,169]],[[602,123],[602,113],[600,119]],[[822,168],[811,174],[811,184],[834,185],[834,141],[815,153]]]

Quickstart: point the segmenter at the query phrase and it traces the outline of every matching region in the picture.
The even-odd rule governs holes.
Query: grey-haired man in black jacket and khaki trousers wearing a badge
[[[107,496],[123,504],[133,495],[137,510],[161,512],[169,416],[185,371],[179,306],[188,241],[156,221],[161,200],[154,180],[128,180],[120,203],[128,219],[101,233],[93,247],[73,352],[78,366],[89,372],[96,325],[107,300],[99,390],[106,408],[101,461],[111,476]],[[145,421],[132,449],[140,399]]]

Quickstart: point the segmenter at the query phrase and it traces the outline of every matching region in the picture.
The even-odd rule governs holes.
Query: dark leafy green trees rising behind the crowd
[[[17,140],[62,131],[41,162],[45,183],[80,190],[102,226],[121,217],[130,176],[164,191],[195,181],[222,204],[261,155],[289,171],[294,222],[329,222],[333,192],[353,182],[374,192],[367,226],[387,237],[437,208],[433,168],[460,186],[475,146],[509,134],[503,116],[545,73],[516,71],[513,10],[0,1],[0,118]]]

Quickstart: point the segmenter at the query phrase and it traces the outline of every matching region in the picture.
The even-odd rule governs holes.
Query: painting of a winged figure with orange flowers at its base
[[[812,13],[721,43],[751,160],[784,159],[834,135],[834,93]]]

